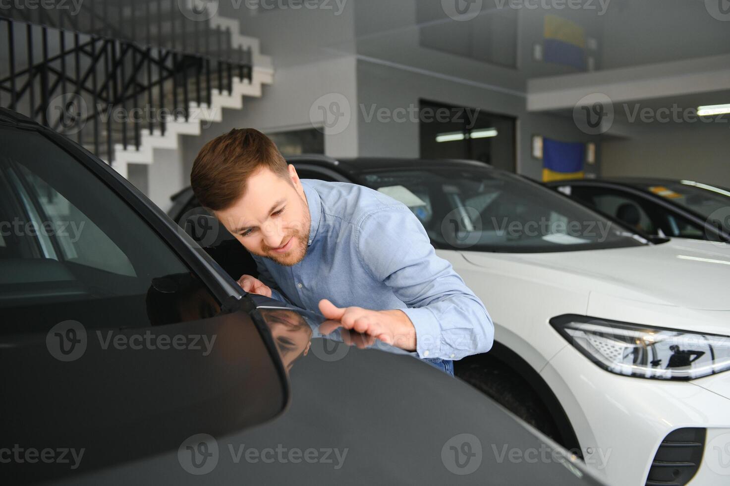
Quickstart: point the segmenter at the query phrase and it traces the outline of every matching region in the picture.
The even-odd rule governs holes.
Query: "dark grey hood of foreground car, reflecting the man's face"
[[[179,450],[61,484],[602,484],[461,380],[387,345],[358,349],[315,337],[323,319],[254,300],[274,340],[285,334],[300,345],[310,341],[307,352],[280,349],[284,364],[296,356],[284,414],[230,436],[193,436]],[[193,464],[195,450],[211,457],[210,466],[197,455],[202,466]]]

